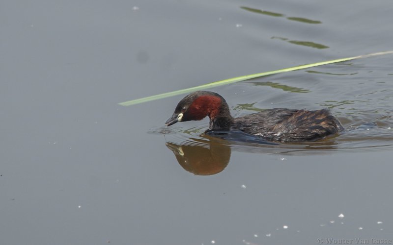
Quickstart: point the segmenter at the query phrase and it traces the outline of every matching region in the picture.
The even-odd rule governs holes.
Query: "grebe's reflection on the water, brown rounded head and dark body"
[[[181,143],[166,142],[184,170],[196,175],[222,172],[231,150],[278,155],[325,155],[337,151],[336,141],[277,144],[241,131],[207,131]]]

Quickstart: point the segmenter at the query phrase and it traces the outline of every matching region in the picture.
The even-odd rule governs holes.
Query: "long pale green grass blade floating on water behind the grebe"
[[[264,72],[264,73],[255,73],[251,75],[244,75],[244,76],[238,76],[238,77],[233,77],[217,82],[212,82],[212,83],[207,83],[203,85],[199,85],[197,87],[192,87],[192,88],[187,88],[187,89],[181,89],[181,90],[176,90],[164,94],[159,94],[159,95],[154,95],[154,96],[149,96],[149,97],[144,97],[144,98],[138,98],[138,99],[133,99],[125,102],[118,103],[119,105],[123,106],[130,106],[130,105],[135,105],[135,104],[140,104],[160,98],[168,98],[171,96],[176,96],[176,95],[181,95],[181,94],[187,94],[191,93],[197,90],[204,90],[208,88],[213,88],[229,83],[234,83],[234,82],[240,82],[256,77],[261,77],[261,76],[267,76],[267,75],[273,75],[277,73],[285,73],[285,72],[291,72],[291,71],[296,71],[296,70],[301,70],[301,69],[307,69],[310,67],[315,67],[315,66],[322,66],[322,65],[327,65],[327,64],[333,64],[333,63],[338,63],[338,62],[343,62],[343,61],[348,61],[348,60],[354,60],[354,59],[360,59],[360,58],[366,58],[366,57],[371,57],[371,56],[377,56],[377,55],[384,55],[384,54],[391,54],[393,53],[392,51],[386,51],[386,52],[377,52],[377,53],[371,53],[371,54],[365,54],[365,55],[359,55],[359,56],[354,56],[354,57],[348,57],[348,58],[342,58],[342,59],[335,59],[335,60],[328,60],[328,61],[322,61],[322,62],[317,62],[317,63],[312,63],[312,64],[307,64],[307,65],[301,65],[301,66],[295,66],[295,67],[290,67],[290,68],[285,68],[281,70],[276,70],[276,71],[270,71],[270,72]]]

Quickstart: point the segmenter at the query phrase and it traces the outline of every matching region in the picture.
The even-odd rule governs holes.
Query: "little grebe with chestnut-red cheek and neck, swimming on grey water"
[[[343,130],[329,110],[268,109],[233,118],[228,104],[219,94],[197,91],[177,104],[166,126],[177,122],[210,119],[209,130],[241,130],[265,139],[281,142],[316,141]]]

